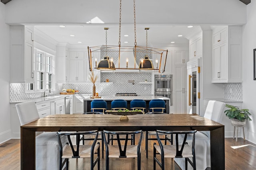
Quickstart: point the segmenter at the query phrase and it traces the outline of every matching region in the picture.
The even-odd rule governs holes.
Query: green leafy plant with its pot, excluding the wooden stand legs
[[[250,118],[252,114],[249,112],[249,109],[239,109],[239,107],[229,104],[226,104],[226,107],[229,109],[226,109],[224,113],[226,113],[226,117],[231,119],[232,126],[244,127],[246,120],[252,121]]]

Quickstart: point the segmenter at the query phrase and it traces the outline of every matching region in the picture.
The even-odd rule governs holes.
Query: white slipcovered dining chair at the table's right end
[[[218,123],[221,123],[222,117],[224,115],[224,107],[226,104],[224,102],[219,102],[215,100],[209,100],[204,117],[211,119]],[[196,150],[196,169],[205,170],[207,167],[211,166],[210,162],[210,131],[198,131],[196,134],[195,150]],[[181,139],[180,139],[181,140]],[[192,145],[192,136],[187,138],[188,145]],[[185,161],[182,159],[174,159],[175,162],[180,166],[180,168],[185,169]]]

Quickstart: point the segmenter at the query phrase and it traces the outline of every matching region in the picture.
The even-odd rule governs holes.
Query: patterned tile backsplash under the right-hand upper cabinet
[[[242,83],[224,83],[224,99],[242,101]]]

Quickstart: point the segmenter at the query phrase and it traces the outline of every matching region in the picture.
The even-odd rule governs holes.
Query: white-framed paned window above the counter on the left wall
[[[35,49],[36,90],[52,89],[54,74],[54,56]],[[49,86],[46,86],[49,84]],[[44,87],[46,89],[44,89]]]

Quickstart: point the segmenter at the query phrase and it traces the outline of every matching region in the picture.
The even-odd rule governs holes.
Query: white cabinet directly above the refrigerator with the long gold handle
[[[194,59],[195,57],[202,57],[203,53],[203,43],[202,37],[197,38],[189,44],[190,51],[190,59]]]

